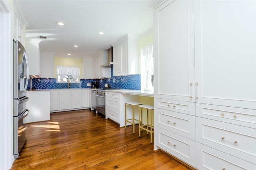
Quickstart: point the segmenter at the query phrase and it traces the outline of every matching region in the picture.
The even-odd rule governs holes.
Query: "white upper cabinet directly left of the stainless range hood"
[[[102,64],[108,63],[108,51],[100,51],[94,59],[94,76],[93,78],[108,78],[111,77],[110,68],[100,67]]]

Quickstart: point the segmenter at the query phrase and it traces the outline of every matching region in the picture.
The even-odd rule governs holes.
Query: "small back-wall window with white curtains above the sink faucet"
[[[57,83],[80,83],[80,67],[57,66]]]

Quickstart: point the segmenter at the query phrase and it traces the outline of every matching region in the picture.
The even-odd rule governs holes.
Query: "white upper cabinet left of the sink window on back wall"
[[[53,78],[53,61],[54,61],[54,55],[53,54],[47,54],[42,53],[42,78]]]

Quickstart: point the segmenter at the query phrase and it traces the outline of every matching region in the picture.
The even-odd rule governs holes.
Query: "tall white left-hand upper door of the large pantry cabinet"
[[[194,102],[194,3],[167,1],[154,15],[154,95]]]

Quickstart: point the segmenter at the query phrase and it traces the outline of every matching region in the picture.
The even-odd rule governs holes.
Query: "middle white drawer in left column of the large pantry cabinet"
[[[178,135],[196,140],[196,117],[156,108],[154,110],[156,126]]]

